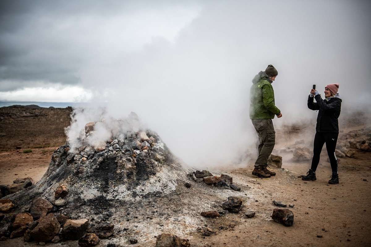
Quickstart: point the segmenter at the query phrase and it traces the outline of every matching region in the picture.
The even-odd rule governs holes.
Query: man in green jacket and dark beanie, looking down
[[[275,106],[275,94],[272,82],[278,72],[269,64],[265,71],[260,71],[252,80],[250,89],[250,119],[259,137],[259,156],[255,161],[253,175],[258,177],[275,176],[276,173],[267,169],[267,161],[273,151],[276,132],[272,119],[275,115],[282,117],[281,111]]]

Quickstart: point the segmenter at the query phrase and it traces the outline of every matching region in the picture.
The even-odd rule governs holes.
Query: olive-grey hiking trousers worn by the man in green
[[[276,131],[272,119],[252,119],[251,121],[259,137],[258,157],[254,166],[265,166],[275,147]]]

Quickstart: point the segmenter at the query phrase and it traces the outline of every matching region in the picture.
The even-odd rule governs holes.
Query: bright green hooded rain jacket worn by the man
[[[250,119],[274,119],[280,114],[275,106],[275,94],[272,82],[264,71],[260,71],[252,80],[250,89]]]

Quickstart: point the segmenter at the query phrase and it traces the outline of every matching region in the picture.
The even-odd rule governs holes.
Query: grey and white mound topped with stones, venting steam
[[[16,200],[18,207],[29,206],[35,197],[53,203],[58,199],[56,189],[63,184],[69,189],[63,198],[64,213],[72,216],[80,210],[115,208],[174,191],[177,180],[185,180],[189,171],[157,133],[134,132],[130,125],[125,128],[125,133],[112,135],[113,140],[94,140],[92,146],[86,146],[89,137],[98,136],[88,127],[79,140],[67,142],[53,153],[47,172],[35,187],[10,199]]]

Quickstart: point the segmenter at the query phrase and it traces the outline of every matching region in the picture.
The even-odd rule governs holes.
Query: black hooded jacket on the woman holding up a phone
[[[316,99],[316,103],[313,99]],[[317,116],[316,131],[339,133],[339,121],[341,99],[338,96],[322,100],[321,95],[308,96],[308,108],[319,110]]]

